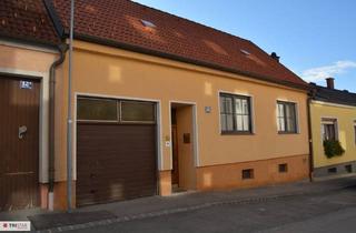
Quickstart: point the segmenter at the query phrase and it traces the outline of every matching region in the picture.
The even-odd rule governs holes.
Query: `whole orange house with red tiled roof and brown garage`
[[[43,2],[66,48],[70,1]],[[76,0],[75,13],[73,206],[308,178],[310,87],[276,53],[128,0]],[[50,209],[67,207],[67,58],[55,72],[53,124],[39,118],[52,138],[40,133],[43,152],[31,160]]]

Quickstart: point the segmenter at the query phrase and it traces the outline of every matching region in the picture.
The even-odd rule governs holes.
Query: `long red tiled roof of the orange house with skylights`
[[[70,0],[52,1],[68,31]],[[142,20],[155,27],[145,27]],[[129,0],[76,0],[75,34],[78,39],[142,48],[158,55],[198,61],[268,81],[306,85],[251,41]]]

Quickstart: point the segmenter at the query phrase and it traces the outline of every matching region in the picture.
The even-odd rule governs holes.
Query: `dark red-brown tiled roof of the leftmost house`
[[[60,42],[42,0],[0,0],[0,36],[46,44]]]

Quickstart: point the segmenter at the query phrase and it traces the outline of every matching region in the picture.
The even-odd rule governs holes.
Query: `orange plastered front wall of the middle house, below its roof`
[[[134,171],[144,169],[147,163],[138,161],[142,154],[138,151],[138,158],[134,156],[136,146],[148,146],[142,150],[149,151],[150,158],[145,162],[151,165],[151,170],[144,175],[156,174],[152,179],[157,179],[161,195],[169,195],[174,184],[184,190],[209,190],[256,186],[308,176],[306,92],[92,43],[76,41],[75,48],[72,105],[77,113],[73,115],[77,124],[73,128],[73,176],[77,182],[82,179],[83,185],[88,182],[88,188],[92,189],[98,178],[90,170],[91,163],[100,163],[98,156],[108,156],[106,159],[112,164],[111,160],[117,158],[110,158],[111,153],[121,154],[119,151],[122,150],[127,150],[122,156],[132,160],[125,161],[121,165],[131,166]],[[63,69],[66,68],[63,65]],[[63,97],[67,91],[67,77],[60,80],[62,82],[58,82],[58,89],[61,92],[57,93]],[[60,115],[57,121],[56,171],[57,179],[66,182],[67,102],[63,98],[56,99],[59,101],[56,115]],[[245,128],[238,128],[234,120],[231,125],[227,125],[228,120],[222,119],[238,111],[229,109],[234,108],[227,103],[233,101],[235,103],[237,100],[248,100],[247,103],[241,103],[248,104],[244,107],[248,109],[244,112],[248,119]],[[293,132],[278,131],[277,112],[278,107],[281,108],[279,103],[290,103],[295,109],[296,125]],[[101,113],[91,112],[100,112],[101,108],[110,108],[110,104],[112,109],[107,110],[112,112],[110,118],[103,113],[100,115]],[[128,104],[127,108],[123,108],[125,104]],[[118,109],[117,105],[119,110],[115,110]],[[125,120],[125,114],[128,114],[128,120]],[[144,136],[148,124],[152,124],[152,129]],[[120,135],[121,126],[131,132],[137,128],[137,134],[142,138]],[[115,132],[107,134],[110,130],[115,131],[115,128],[119,131],[118,135]],[[236,128],[246,130],[237,132]],[[125,131],[122,129],[122,132]],[[117,139],[111,141],[109,138],[113,135]],[[102,144],[98,142],[100,136]],[[122,140],[125,145],[130,146],[125,149],[125,145],[117,144],[117,140]],[[145,140],[150,141],[151,145],[145,145]],[[111,146],[119,151],[108,151],[108,154],[105,154],[105,150]],[[105,161],[98,164],[100,165],[108,171]],[[103,172],[100,169],[98,168],[98,173]],[[172,183],[174,169],[178,173],[177,183]],[[134,171],[126,172],[135,176]],[[116,192],[117,189],[117,192],[121,192],[120,184],[113,182],[107,185],[102,188],[105,191],[109,189]],[[156,190],[156,184],[151,189]],[[77,184],[77,195],[81,192],[90,193],[90,190],[78,190]],[[100,199],[101,194],[98,195]]]

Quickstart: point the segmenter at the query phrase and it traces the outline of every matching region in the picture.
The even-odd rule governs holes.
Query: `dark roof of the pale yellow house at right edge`
[[[312,84],[312,87],[316,90],[315,100],[356,107],[356,93],[346,90],[328,89],[316,84]]]

